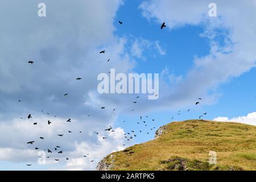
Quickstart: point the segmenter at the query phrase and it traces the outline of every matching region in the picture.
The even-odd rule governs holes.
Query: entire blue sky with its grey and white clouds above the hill
[[[256,23],[249,18],[256,5],[251,1],[216,1],[218,16],[213,18],[208,16],[210,1],[203,0],[47,0],[44,18],[37,16],[39,2],[0,2],[0,133],[5,136],[0,136],[0,169],[93,170],[123,144],[154,139],[159,126],[198,119],[203,113],[203,119],[256,125],[256,36],[250,31]],[[163,22],[167,27],[160,30]],[[98,54],[103,48],[106,53]],[[35,64],[28,65],[28,60]],[[99,94],[97,75],[110,68],[159,73],[159,99]],[[199,97],[203,100],[195,105]],[[26,119],[28,114],[32,120]],[[48,119],[51,126],[45,125]],[[104,131],[109,126],[114,133]],[[131,130],[137,137],[127,142],[123,136]],[[60,133],[63,139],[56,137]],[[30,146],[28,140],[36,142]],[[64,155],[52,154],[47,165],[36,163],[35,146],[43,150],[56,145]],[[52,160],[56,158],[59,163]]]

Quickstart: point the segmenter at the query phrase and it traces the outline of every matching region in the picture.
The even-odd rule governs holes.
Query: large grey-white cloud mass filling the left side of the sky
[[[61,146],[64,155],[52,154],[50,159],[65,161],[64,156],[69,156],[75,160],[86,150],[95,162],[81,168],[80,160],[75,160],[72,168],[95,169],[97,160],[120,150],[123,144],[117,137],[122,129],[117,129],[116,135],[102,132],[113,126],[117,113],[112,107],[101,110],[103,105],[94,103],[97,100],[90,95],[97,88],[98,73],[108,73],[113,67],[127,72],[134,67],[124,52],[126,39],[113,34],[115,13],[122,1],[46,0],[47,16],[42,18],[38,16],[39,3],[0,2],[0,160],[36,163],[35,147],[54,150]],[[99,54],[102,49],[108,51]],[[110,57],[112,61],[106,65]],[[35,63],[28,64],[28,60]],[[28,114],[32,119],[27,119]],[[65,122],[68,118],[71,123]],[[108,137],[108,142],[93,131]],[[30,146],[27,142],[31,140],[35,144]]]

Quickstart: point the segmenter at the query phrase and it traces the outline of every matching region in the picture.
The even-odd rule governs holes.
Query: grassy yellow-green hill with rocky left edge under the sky
[[[256,170],[256,126],[188,120],[156,133],[154,140],[109,154],[97,169]],[[217,164],[209,164],[209,151],[217,152]]]

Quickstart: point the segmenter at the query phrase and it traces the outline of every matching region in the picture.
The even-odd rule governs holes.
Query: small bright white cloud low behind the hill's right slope
[[[239,122],[245,123],[248,125],[256,126],[256,112],[249,113],[246,116],[239,116],[235,118],[228,118],[228,117],[217,117],[214,118],[213,121],[223,121],[223,122]]]

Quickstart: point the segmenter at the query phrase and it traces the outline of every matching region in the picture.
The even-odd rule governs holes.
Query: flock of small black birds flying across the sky
[[[118,21],[118,22],[119,22],[119,24],[123,24],[123,22],[121,22],[121,21]],[[165,24],[165,23],[162,23],[160,29],[163,29],[164,27],[166,27],[166,24]],[[100,53],[105,53],[105,50],[104,50],[104,51],[100,51]],[[109,62],[109,61],[110,61],[110,59],[108,59],[107,62]],[[28,63],[29,63],[29,64],[34,64],[34,61],[31,61],[31,60],[30,60],[30,61],[28,61]],[[82,80],[82,78],[78,77],[78,78],[76,78],[76,80]],[[68,93],[65,93],[64,96],[68,96]],[[158,94],[156,94],[156,96],[158,96]],[[156,97],[156,96],[155,96],[155,97]],[[138,99],[139,96],[137,96],[137,97],[135,97],[135,98]],[[199,98],[199,100],[202,100],[202,98]],[[21,102],[21,101],[19,100],[19,102]],[[133,104],[137,104],[137,101],[133,101]],[[199,105],[199,104],[200,104],[200,102],[197,101],[197,102],[196,102],[196,105]],[[105,109],[105,106],[102,106],[101,109]],[[115,108],[113,109],[113,111],[115,111]],[[132,109],[131,111],[134,111],[134,109]],[[187,112],[188,112],[188,111],[190,111],[190,109],[188,109]],[[42,110],[42,112],[43,112],[43,110]],[[49,113],[47,113],[47,114],[49,115]],[[177,113],[177,114],[180,115],[180,114],[181,114],[180,111],[179,111],[179,113]],[[207,114],[207,113],[204,113],[203,115],[206,115],[206,114]],[[200,115],[199,118],[203,117],[203,115]],[[88,115],[88,117],[89,117],[89,116],[90,116],[90,115]],[[56,116],[55,116],[55,117],[56,117]],[[28,119],[31,119],[31,118],[32,118],[32,115],[31,115],[31,114],[28,114],[27,118],[28,118]],[[148,116],[146,116],[146,118],[148,118]],[[137,122],[137,124],[142,123],[143,125],[145,125],[145,126],[147,127],[148,124],[147,124],[147,122],[145,121],[146,118],[143,119],[142,116],[140,116],[140,117],[139,117],[139,121]],[[23,118],[20,118],[20,119],[23,119]],[[172,120],[172,119],[174,119],[174,116],[171,118],[171,120]],[[154,122],[154,121],[155,121],[155,119],[152,119],[152,122]],[[66,122],[72,122],[72,121],[71,121],[71,118],[67,119]],[[123,121],[123,122],[126,122],[126,121]],[[47,124],[48,124],[48,125],[51,125],[51,123],[52,123],[51,121],[49,121],[49,120],[47,121]],[[34,122],[33,124],[34,124],[34,125],[38,125],[37,122]],[[151,127],[151,128],[150,128],[150,130],[153,130],[153,129],[155,129],[155,127]],[[81,131],[79,131],[79,132],[82,133]],[[108,129],[105,129],[105,132],[114,132],[113,127],[110,126]],[[142,133],[142,130],[138,130],[138,132],[139,132],[139,133]],[[69,130],[68,130],[68,133],[72,133],[72,131],[69,131]],[[147,134],[150,134],[150,133],[148,133],[148,132],[146,132],[146,133],[147,133]],[[100,134],[100,133],[98,133],[97,131],[94,131],[94,134],[98,135],[98,134]],[[63,137],[64,134],[58,134],[57,136]],[[127,141],[132,140],[132,139],[134,139],[135,137],[137,137],[137,133],[135,133],[134,130],[131,130],[130,132],[127,132],[127,133],[124,134],[124,138],[125,138]],[[39,139],[44,140],[45,138],[44,138],[44,137],[39,137]],[[107,139],[107,137],[102,137],[102,139],[105,140],[105,139]],[[35,140],[29,141],[29,142],[27,142],[27,144],[34,144],[34,145],[35,145]],[[123,144],[123,146],[125,146],[125,144]],[[55,147],[53,147],[53,149],[52,149],[52,148],[45,148],[45,149],[43,149],[43,150],[46,151],[48,154],[53,154],[53,152],[56,152],[56,154],[63,155],[63,154],[64,154],[64,151],[61,150],[60,148],[61,148],[60,146],[55,146]],[[38,148],[38,147],[35,147],[35,150],[39,150],[39,148]],[[84,156],[84,158],[86,158],[88,155],[89,155],[89,154],[86,154],[86,155],[83,155],[83,156]],[[49,159],[50,157],[51,157],[50,155],[46,156],[47,159]],[[39,158],[40,158],[40,156],[39,156]],[[55,161],[59,161],[59,159],[54,159],[54,160],[55,160]],[[68,156],[65,157],[65,160],[69,160]],[[90,162],[94,162],[94,160],[90,160]],[[26,164],[26,165],[27,165],[27,166],[31,166],[32,164]]]

